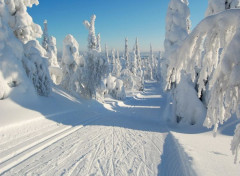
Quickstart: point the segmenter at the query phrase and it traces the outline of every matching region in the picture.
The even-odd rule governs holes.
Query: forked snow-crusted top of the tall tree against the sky
[[[85,20],[83,24],[88,29],[88,49],[89,50],[96,50],[97,49],[97,38],[95,34],[95,20],[96,15],[92,15],[90,22]]]

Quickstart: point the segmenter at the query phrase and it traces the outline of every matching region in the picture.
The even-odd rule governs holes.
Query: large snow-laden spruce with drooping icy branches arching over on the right
[[[188,84],[183,88],[177,87],[184,97],[190,97],[189,92],[184,92],[186,85],[195,92],[192,92],[191,101],[182,103],[190,106],[192,102],[198,102],[199,106],[201,103],[201,109],[207,110],[204,125],[214,126],[215,132],[218,125],[234,113],[240,118],[239,16],[240,10],[235,9],[205,18],[170,56],[168,88],[175,83],[181,84],[182,77],[188,75]],[[180,95],[176,92],[174,96]],[[175,106],[182,109],[183,117],[188,115],[181,103]],[[232,143],[234,154],[240,147],[239,141],[236,133]]]

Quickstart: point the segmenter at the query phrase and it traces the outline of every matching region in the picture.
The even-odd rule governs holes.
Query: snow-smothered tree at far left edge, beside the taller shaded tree
[[[24,48],[8,24],[8,7],[0,1],[0,99],[15,91],[34,95],[34,87],[23,67]]]

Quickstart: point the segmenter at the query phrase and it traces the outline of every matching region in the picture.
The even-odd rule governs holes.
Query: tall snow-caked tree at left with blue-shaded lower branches
[[[2,0],[1,17],[22,42],[21,62],[35,90],[39,95],[47,96],[50,93],[51,80],[47,69],[47,58],[44,57],[45,51],[37,41],[37,38],[42,36],[42,30],[27,13],[27,7],[32,7],[34,4],[38,5],[38,0]]]

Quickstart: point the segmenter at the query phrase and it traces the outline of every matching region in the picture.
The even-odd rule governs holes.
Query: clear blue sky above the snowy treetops
[[[28,9],[35,23],[43,26],[48,20],[49,35],[57,38],[58,49],[67,34],[79,42],[80,50],[86,50],[88,31],[83,26],[96,14],[96,33],[101,34],[101,44],[122,51],[124,38],[128,37],[132,48],[139,38],[141,51],[162,49],[165,35],[165,16],[169,0],[39,0],[39,5]],[[204,17],[207,0],[189,0],[192,26]]]

